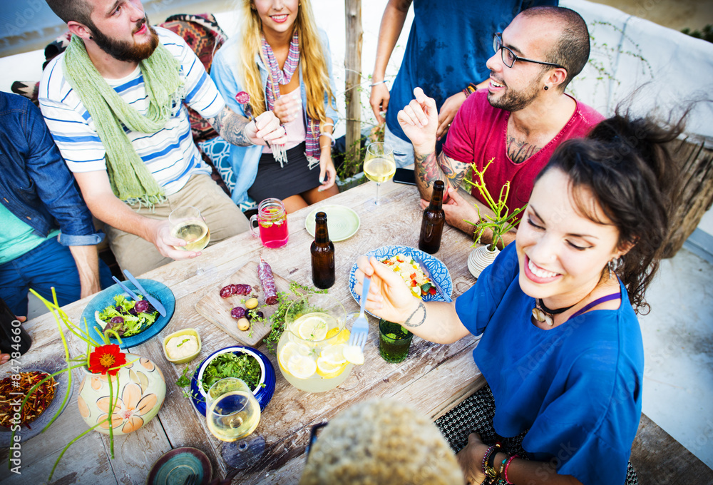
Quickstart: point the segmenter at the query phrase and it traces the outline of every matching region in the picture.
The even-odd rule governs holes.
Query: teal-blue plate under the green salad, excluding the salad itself
[[[152,297],[155,297],[156,300],[163,303],[163,306],[166,307],[166,316],[162,317],[161,315],[158,315],[156,321],[153,322],[150,327],[146,328],[142,332],[136,335],[132,335],[131,337],[122,337],[121,344],[119,344],[117,339],[110,339],[112,344],[119,344],[119,347],[121,347],[122,349],[136,347],[137,345],[143,344],[143,342],[146,342],[146,340],[150,339],[151,337],[155,337],[155,335],[158,335],[158,332],[163,330],[165,326],[168,325],[168,322],[170,322],[171,317],[173,317],[173,312],[176,308],[175,296],[173,296],[173,292],[168,286],[158,281],[146,280],[144,278],[139,278],[138,282],[141,283],[141,285],[146,289],[147,292],[149,292]],[[136,294],[140,295],[141,292],[136,289],[131,284],[131,282],[123,281],[123,284],[128,286],[129,290],[133,290]],[[95,339],[97,342],[101,343],[102,339],[101,335],[99,335],[99,332],[95,328],[98,327],[99,324],[97,323],[96,318],[94,318],[94,312],[96,312],[97,310],[101,312],[101,310],[104,310],[109,305],[114,305],[114,297],[116,295],[124,295],[125,297],[129,297],[124,292],[124,290],[119,287],[119,285],[111,285],[106,290],[102,290],[101,292],[99,292],[96,297],[93,297],[89,302],[89,305],[87,305],[87,307],[82,312],[82,318],[79,322],[79,327],[82,329],[84,328],[84,319],[86,318],[87,325],[89,325],[89,336]]]

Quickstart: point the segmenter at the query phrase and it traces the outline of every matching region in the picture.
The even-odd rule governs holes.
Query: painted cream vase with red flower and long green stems
[[[47,481],[52,479],[57,464],[62,459],[69,446],[92,430],[108,434],[111,449],[111,458],[114,458],[114,436],[128,434],[143,427],[144,424],[158,414],[163,405],[166,394],[166,384],[163,373],[149,359],[135,354],[121,352],[117,344],[109,342],[109,335],[121,343],[117,332],[107,329],[98,329],[102,342],[93,339],[89,334],[88,324],[84,322],[84,330],[69,320],[68,315],[61,310],[57,297],[52,289],[54,302],[44,299],[34,290],[30,290],[52,312],[57,322],[59,335],[64,347],[67,367],[53,374],[49,374],[35,384],[21,402],[21,407],[39,389],[43,382],[63,372],[68,372],[68,389],[63,399],[66,401],[72,385],[72,369],[81,369],[83,379],[79,385],[77,404],[79,414],[89,425],[89,429],[76,436],[64,446]],[[72,358],[67,347],[65,332],[71,332],[86,343],[86,352]],[[61,399],[55,396],[54,399]],[[42,430],[45,431],[63,411],[62,405],[51,421]],[[14,432],[13,432],[14,435]],[[11,436],[11,441],[14,436]],[[9,456],[12,456],[11,454]]]

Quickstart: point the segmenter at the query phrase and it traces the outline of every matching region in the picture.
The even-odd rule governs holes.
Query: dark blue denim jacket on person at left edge
[[[0,91],[0,200],[37,235],[60,228],[66,246],[103,240],[74,178],[29,99]]]

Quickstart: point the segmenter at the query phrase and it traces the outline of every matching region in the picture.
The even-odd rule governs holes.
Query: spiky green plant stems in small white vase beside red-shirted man
[[[527,205],[524,205],[521,208],[513,210],[512,214],[508,214],[508,206],[506,205],[506,200],[508,200],[508,195],[510,194],[509,180],[501,188],[497,202],[495,199],[493,199],[493,196],[486,187],[485,182],[486,170],[488,170],[490,164],[493,163],[493,160],[495,160],[495,158],[491,158],[490,160],[488,160],[488,163],[485,167],[483,167],[483,170],[478,170],[478,167],[476,167],[475,163],[471,164],[473,173],[477,175],[477,179],[475,182],[470,180],[470,178],[463,179],[467,183],[473,185],[473,187],[478,189],[478,192],[481,193],[483,199],[486,200],[488,208],[493,211],[493,215],[486,214],[485,217],[483,217],[481,215],[480,208],[478,208],[478,205],[476,205],[476,210],[478,210],[478,222],[471,223],[471,221],[466,220],[466,223],[476,226],[476,233],[474,235],[474,237],[476,238],[476,243],[481,241],[483,233],[486,230],[492,231],[493,240],[491,244],[488,245],[488,250],[491,251],[496,250],[496,247],[498,247],[498,242],[501,242],[503,240],[503,234],[515,228],[515,222],[517,220],[518,214],[525,210],[525,207],[527,207]]]

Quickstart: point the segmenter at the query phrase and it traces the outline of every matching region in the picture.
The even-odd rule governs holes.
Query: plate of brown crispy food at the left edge
[[[5,367],[11,368],[10,361]],[[25,409],[21,413],[19,428],[18,423],[13,421],[14,403],[17,399],[24,399],[27,392],[48,374],[53,374],[66,367],[64,359],[56,358],[28,364],[26,367],[8,371],[6,375],[0,376],[0,447],[7,448],[11,444],[13,430],[16,436],[20,436],[21,442],[25,442],[39,434],[42,429],[51,422],[57,412],[63,412],[67,404],[71,401],[72,388],[69,387],[68,372],[63,372],[51,377],[41,384],[32,394],[25,404]],[[19,378],[14,378],[19,375]],[[17,386],[14,382],[19,382]],[[65,400],[65,394],[69,389],[69,394]],[[15,394],[21,393],[21,394]],[[21,401],[20,401],[21,402]],[[16,429],[15,429],[16,428]]]

